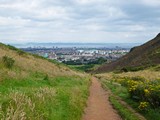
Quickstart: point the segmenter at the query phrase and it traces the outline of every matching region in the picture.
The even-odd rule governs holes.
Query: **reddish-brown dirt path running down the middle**
[[[90,96],[82,120],[121,120],[108,97],[108,93],[103,90],[98,80],[92,78]]]

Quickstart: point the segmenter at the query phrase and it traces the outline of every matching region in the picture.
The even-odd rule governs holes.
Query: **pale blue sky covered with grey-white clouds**
[[[0,42],[144,43],[160,0],[0,0]]]

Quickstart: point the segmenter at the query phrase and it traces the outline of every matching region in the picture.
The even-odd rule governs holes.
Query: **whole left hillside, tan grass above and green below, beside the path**
[[[0,119],[80,120],[89,76],[0,44]]]

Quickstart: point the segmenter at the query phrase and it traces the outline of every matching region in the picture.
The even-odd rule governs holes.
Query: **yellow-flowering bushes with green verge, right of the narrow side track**
[[[112,80],[102,80],[102,83],[148,120],[160,118],[159,79],[114,76]]]

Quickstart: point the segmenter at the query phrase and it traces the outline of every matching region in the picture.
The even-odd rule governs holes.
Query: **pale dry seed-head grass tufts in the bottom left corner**
[[[40,114],[36,110],[36,106],[43,106],[46,100],[54,99],[56,95],[53,88],[30,89],[34,94],[28,96],[26,93],[12,90],[11,93],[5,95],[8,101],[0,106],[1,120],[40,120]],[[4,96],[3,96],[4,97]]]

